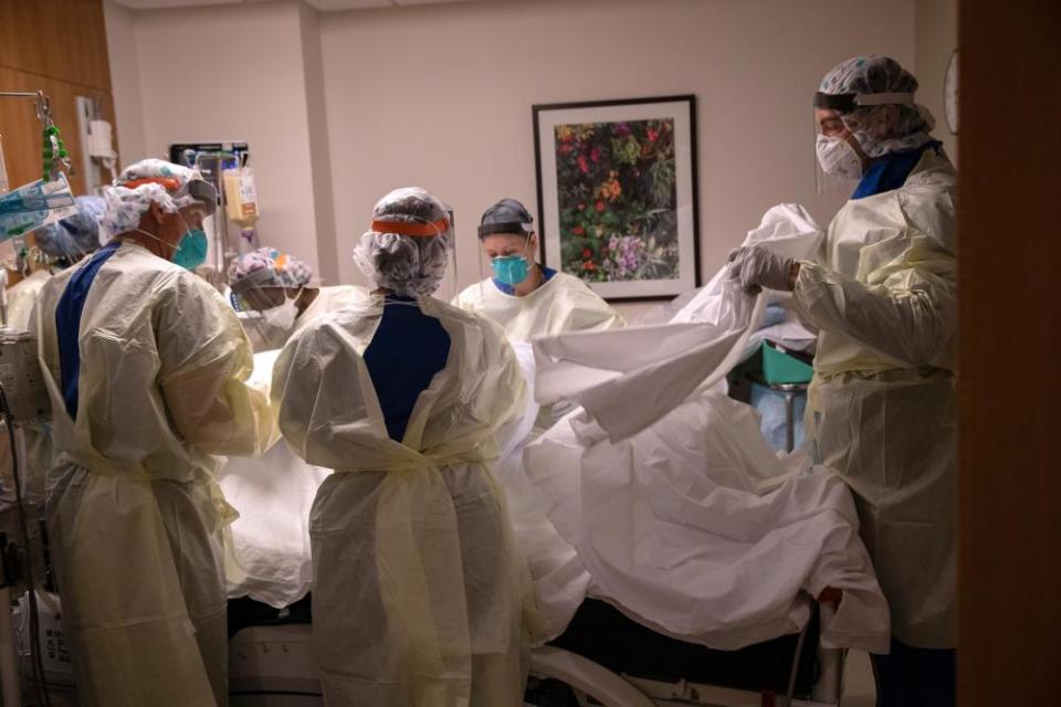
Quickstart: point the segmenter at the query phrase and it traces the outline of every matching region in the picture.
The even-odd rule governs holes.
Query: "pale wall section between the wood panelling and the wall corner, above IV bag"
[[[183,8],[132,13],[137,81],[117,76],[115,91],[139,92],[143,146],[123,148],[123,161],[165,157],[169,145],[186,141],[246,140],[261,199],[262,243],[305,258],[315,266],[318,239],[334,251],[330,199],[318,223],[311,107],[303,45],[304,10],[298,2]],[[128,52],[128,23],[107,8],[112,46]],[[315,20],[315,18],[313,18]],[[124,36],[123,36],[124,35]],[[311,38],[316,42],[317,32]],[[311,50],[308,50],[312,52]],[[118,64],[118,62],[113,62]],[[316,99],[323,97],[319,91]],[[136,133],[135,116],[118,113],[118,130]],[[319,133],[319,118],[314,118]],[[326,176],[326,163],[316,175]],[[325,179],[327,181],[327,179]],[[319,272],[319,268],[318,268]],[[332,268],[332,279],[337,275]]]

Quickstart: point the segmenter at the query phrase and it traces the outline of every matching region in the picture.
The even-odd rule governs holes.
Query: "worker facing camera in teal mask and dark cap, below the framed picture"
[[[621,327],[622,317],[586,283],[535,262],[538,235],[533,222],[515,199],[502,199],[486,210],[479,240],[492,277],[465,288],[454,304],[490,317],[513,341]]]

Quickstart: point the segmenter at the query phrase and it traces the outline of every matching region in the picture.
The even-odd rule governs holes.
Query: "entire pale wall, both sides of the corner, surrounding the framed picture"
[[[537,212],[533,104],[696,95],[705,277],[775,203],[802,203],[824,224],[843,196],[815,193],[819,78],[866,52],[928,61],[936,35],[954,32],[939,8],[955,2],[105,8],[123,161],[175,141],[248,140],[262,241],[327,282],[364,282],[350,251],[372,203],[423,186],[456,209],[463,285],[480,274],[485,207],[512,196]]]

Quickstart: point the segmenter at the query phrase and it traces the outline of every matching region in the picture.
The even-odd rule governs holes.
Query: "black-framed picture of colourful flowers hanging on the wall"
[[[542,263],[609,302],[698,287],[696,98],[532,106]]]

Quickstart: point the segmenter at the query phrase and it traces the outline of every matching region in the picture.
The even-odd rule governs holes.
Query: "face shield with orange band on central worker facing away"
[[[433,297],[452,302],[458,293],[453,211],[431,221],[414,214],[380,214],[355,251],[388,303],[416,305]]]

